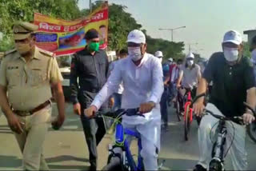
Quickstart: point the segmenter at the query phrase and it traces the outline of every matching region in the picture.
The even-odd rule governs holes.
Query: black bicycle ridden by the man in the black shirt
[[[197,101],[199,97],[203,97],[203,96],[206,96],[206,94],[205,93],[200,94],[198,97],[194,98],[194,101]],[[194,104],[194,101],[192,101],[192,104]],[[254,113],[254,116],[256,116],[254,109],[252,109],[250,105],[246,104],[246,102],[244,102],[244,105],[246,106],[247,109],[250,109],[250,111]],[[236,121],[242,124],[243,119],[242,117],[225,117],[221,115],[216,115],[208,109],[205,109],[203,114],[204,115],[210,114],[211,116],[219,119],[218,129],[216,131],[217,140],[214,142],[214,145],[213,145],[212,160],[210,161],[210,164],[209,164],[209,170],[210,171],[224,170],[224,158],[226,157],[226,154],[230,149],[228,148],[226,154],[224,154],[224,146],[226,145],[226,134],[227,134],[226,121]],[[232,142],[231,142],[231,145],[232,145]]]

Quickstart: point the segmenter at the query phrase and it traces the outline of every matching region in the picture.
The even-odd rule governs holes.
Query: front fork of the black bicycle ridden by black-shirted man
[[[227,133],[225,121],[220,121],[217,132],[217,141],[214,143],[212,160],[209,165],[210,170],[224,170],[224,145],[226,144]]]

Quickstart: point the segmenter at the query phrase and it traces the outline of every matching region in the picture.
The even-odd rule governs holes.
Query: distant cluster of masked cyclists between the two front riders
[[[157,51],[154,54],[162,62],[163,54]],[[168,58],[167,62],[163,62],[163,81],[164,92],[160,101],[162,115],[162,129],[168,129],[168,112],[167,106],[179,103],[179,111],[181,115],[184,112],[184,101],[182,100],[187,91],[191,91],[192,97],[195,97],[198,82],[202,77],[203,70],[207,64],[206,58],[198,58],[197,63],[193,53],[186,55],[186,58]],[[177,97],[178,96],[178,97]],[[176,106],[174,106],[176,108]]]

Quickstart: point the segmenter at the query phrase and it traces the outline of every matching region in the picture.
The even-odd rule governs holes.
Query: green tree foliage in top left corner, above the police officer
[[[14,22],[32,22],[34,12],[66,20],[81,17],[78,0],[1,0],[0,11],[0,32],[4,35],[0,50],[13,46],[11,27]]]

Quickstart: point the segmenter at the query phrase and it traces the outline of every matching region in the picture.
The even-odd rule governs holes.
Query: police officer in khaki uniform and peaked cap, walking
[[[2,60],[0,104],[22,150],[24,169],[49,170],[42,145],[51,121],[50,87],[58,103],[52,125],[58,129],[65,119],[62,75],[53,54],[34,46],[33,32],[38,26],[16,22],[13,30],[16,50]]]

